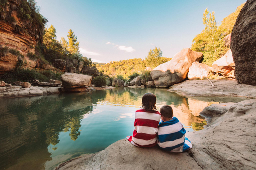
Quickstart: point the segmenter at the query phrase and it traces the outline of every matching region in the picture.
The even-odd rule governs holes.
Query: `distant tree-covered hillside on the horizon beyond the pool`
[[[170,61],[171,58],[161,57],[163,63]],[[103,74],[111,75],[116,77],[117,75],[122,75],[124,78],[128,78],[128,76],[133,73],[141,74],[145,68],[147,67],[145,60],[141,58],[134,58],[129,60],[120,60],[120,61],[110,61],[104,65],[95,65],[97,69]]]

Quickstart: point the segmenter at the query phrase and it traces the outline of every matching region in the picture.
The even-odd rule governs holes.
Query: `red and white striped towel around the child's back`
[[[157,127],[161,119],[158,111],[137,110],[135,112],[134,131],[126,138],[135,146],[151,147],[157,144]]]

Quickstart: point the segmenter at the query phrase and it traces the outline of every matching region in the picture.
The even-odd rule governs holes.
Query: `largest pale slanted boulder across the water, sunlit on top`
[[[190,48],[182,49],[174,55],[172,60],[160,64],[150,72],[155,86],[169,87],[184,80],[192,63],[199,61],[202,57],[202,52],[192,51]]]

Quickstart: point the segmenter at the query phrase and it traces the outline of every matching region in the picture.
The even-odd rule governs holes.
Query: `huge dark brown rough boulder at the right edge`
[[[256,1],[247,0],[231,33],[235,77],[241,84],[256,85]]]

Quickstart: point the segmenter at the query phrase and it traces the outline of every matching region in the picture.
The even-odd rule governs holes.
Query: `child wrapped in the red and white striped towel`
[[[126,138],[135,146],[152,147],[157,144],[161,114],[156,111],[156,96],[153,93],[145,93],[141,103],[142,109],[135,112],[133,135]]]

